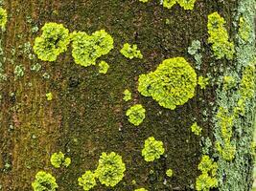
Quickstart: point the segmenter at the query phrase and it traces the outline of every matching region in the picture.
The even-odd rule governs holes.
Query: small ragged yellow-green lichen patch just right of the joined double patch
[[[143,58],[143,55],[138,50],[137,45],[130,45],[128,43],[124,44],[124,46],[121,49],[120,53],[122,53],[123,55],[125,55],[129,59],[132,59],[134,57],[136,57],[136,58]]]

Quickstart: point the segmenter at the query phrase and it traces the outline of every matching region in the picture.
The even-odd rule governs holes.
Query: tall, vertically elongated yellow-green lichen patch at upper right
[[[233,42],[228,41],[228,33],[224,28],[225,21],[218,12],[208,15],[208,42],[212,44],[212,50],[217,59],[226,57],[231,60],[235,53]]]

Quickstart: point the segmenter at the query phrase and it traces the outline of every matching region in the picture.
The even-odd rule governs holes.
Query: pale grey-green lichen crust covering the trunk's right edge
[[[249,26],[255,26],[255,1],[254,0],[242,0],[239,2],[238,14],[235,19],[236,27],[239,27],[240,18],[243,15],[246,23]],[[239,30],[237,30],[239,31]],[[254,125],[254,113],[255,113],[255,86],[251,88],[250,93],[253,96],[243,98],[243,104],[239,101],[243,96],[244,77],[248,67],[255,67],[255,30],[249,31],[250,33],[246,41],[241,36],[241,32],[238,33],[236,39],[236,61],[232,64],[232,68],[228,73],[223,74],[224,81],[219,84],[217,89],[217,111],[216,114],[220,114],[220,109],[224,111],[222,113],[222,119],[228,119],[224,123],[220,121],[220,115],[215,117],[215,138],[216,145],[219,151],[216,152],[215,157],[218,160],[218,177],[219,177],[219,190],[250,190],[252,184],[252,176],[248,176],[252,173],[251,161],[253,159],[251,152],[251,142],[253,139],[253,125]],[[244,74],[243,74],[244,73]],[[241,76],[243,74],[243,76]],[[250,83],[253,84],[255,80],[255,74],[251,72]],[[228,76],[228,77],[225,77]],[[235,81],[234,81],[235,80]],[[238,83],[236,82],[238,80]],[[251,81],[252,80],[252,81]],[[223,83],[225,82],[225,83]],[[245,86],[248,88],[248,86]],[[241,108],[243,110],[241,110]],[[243,116],[243,117],[242,117]],[[223,120],[222,120],[223,121]],[[226,147],[226,140],[223,137],[226,128],[228,127],[230,146],[235,148],[230,150]],[[227,130],[227,129],[226,129]],[[220,152],[220,148],[221,151]],[[227,150],[222,150],[227,149]],[[225,153],[223,153],[225,151]],[[223,155],[224,154],[224,155]]]

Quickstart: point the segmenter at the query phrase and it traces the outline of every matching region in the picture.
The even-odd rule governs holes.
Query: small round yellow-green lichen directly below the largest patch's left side
[[[127,111],[128,121],[135,126],[141,124],[145,118],[146,110],[141,104],[131,106]]]

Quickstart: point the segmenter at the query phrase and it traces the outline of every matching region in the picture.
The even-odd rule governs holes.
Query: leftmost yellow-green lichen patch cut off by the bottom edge
[[[32,187],[35,191],[55,191],[58,188],[58,184],[50,173],[39,171],[35,175]]]

